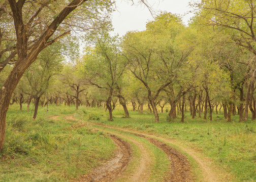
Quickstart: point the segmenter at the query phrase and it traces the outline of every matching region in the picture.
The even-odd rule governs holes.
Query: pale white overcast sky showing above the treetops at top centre
[[[175,14],[183,15],[189,11],[188,3],[191,0],[148,0],[155,11],[167,11]],[[114,32],[120,36],[131,30],[145,30],[146,23],[153,20],[149,10],[142,5],[136,6],[127,3],[127,0],[117,0],[117,11],[113,13]],[[134,1],[136,2],[136,1]],[[188,14],[183,18],[183,22],[187,24],[192,14]]]

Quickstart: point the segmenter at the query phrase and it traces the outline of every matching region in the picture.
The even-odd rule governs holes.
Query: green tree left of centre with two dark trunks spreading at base
[[[129,117],[120,86],[127,64],[120,54],[120,40],[117,36],[111,37],[107,30],[102,30],[100,33],[92,32],[90,37],[94,49],[88,48],[87,55],[84,56],[85,72],[90,77],[88,81],[106,93],[106,107],[109,111],[110,121],[113,120],[114,107],[111,102],[114,95],[119,98],[126,116]]]

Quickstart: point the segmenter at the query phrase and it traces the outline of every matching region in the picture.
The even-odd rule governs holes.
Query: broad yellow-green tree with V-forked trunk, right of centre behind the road
[[[128,68],[147,90],[147,99],[159,122],[156,109],[159,94],[177,77],[186,53],[178,49],[175,38],[184,30],[180,17],[162,13],[142,32],[129,32],[123,41]]]

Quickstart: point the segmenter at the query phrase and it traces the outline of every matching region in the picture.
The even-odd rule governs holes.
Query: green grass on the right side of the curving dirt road
[[[223,113],[213,113],[213,121],[201,118],[191,119],[185,115],[185,123],[180,123],[180,116],[174,122],[167,122],[167,113],[159,113],[160,123],[154,123],[154,116],[147,112],[130,111],[131,118],[122,118],[122,110],[113,112],[114,121],[107,121],[108,113],[103,109],[82,108],[89,119],[90,115],[98,116],[92,119],[106,125],[158,133],[169,138],[178,139],[196,147],[206,156],[212,158],[222,169],[232,173],[234,181],[256,181],[256,122],[248,120],[239,123],[239,117],[232,118],[227,123]]]

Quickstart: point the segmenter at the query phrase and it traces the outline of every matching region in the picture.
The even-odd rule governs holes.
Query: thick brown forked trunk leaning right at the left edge
[[[62,21],[73,10],[75,10],[85,1],[86,0],[74,0],[68,6],[63,8],[58,16],[56,16],[56,18],[51,23],[49,23],[45,32],[29,48],[27,42],[29,38],[28,32],[30,31],[30,27],[25,26],[22,19],[22,3],[24,4],[25,1],[8,1],[12,9],[12,17],[16,30],[16,50],[18,58],[11,73],[7,77],[5,83],[0,90],[0,151],[3,149],[5,142],[6,114],[9,108],[13,91],[19,83],[21,76],[23,75],[25,70],[36,60],[37,56],[44,48],[57,41],[59,38],[70,33],[70,31],[68,31],[60,35],[58,38],[55,38],[52,41],[48,41],[57,29],[58,25],[61,24]],[[21,6],[17,6],[17,4]]]

